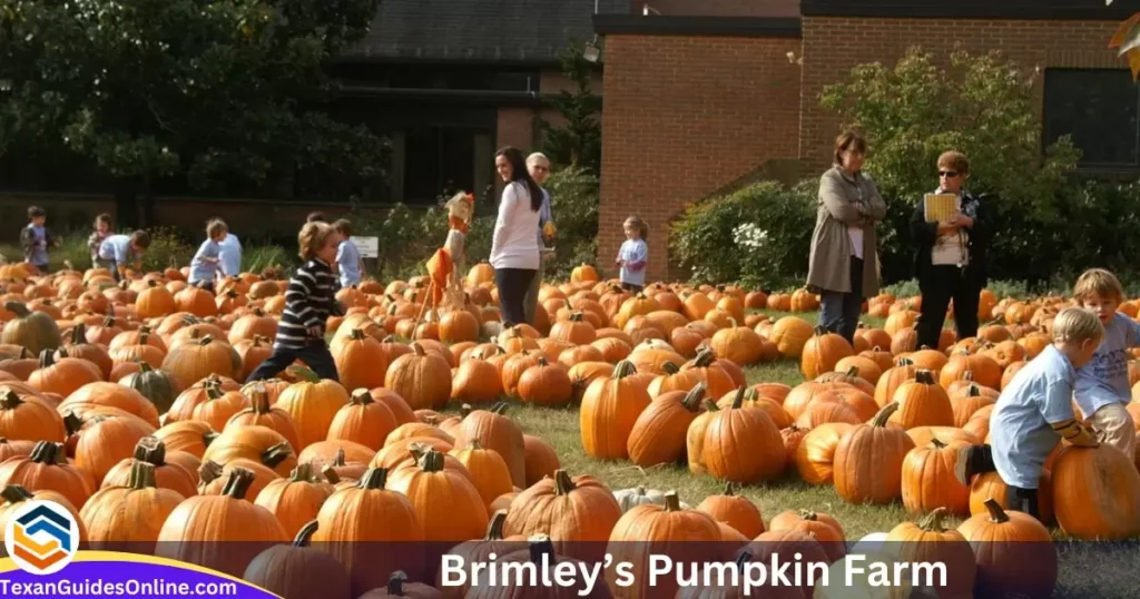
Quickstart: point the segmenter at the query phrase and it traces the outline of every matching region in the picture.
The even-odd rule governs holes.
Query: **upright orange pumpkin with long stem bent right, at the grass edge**
[[[898,404],[887,404],[868,424],[844,434],[836,447],[836,493],[852,503],[890,503],[902,495],[902,468],[914,442],[905,431],[887,428]]]

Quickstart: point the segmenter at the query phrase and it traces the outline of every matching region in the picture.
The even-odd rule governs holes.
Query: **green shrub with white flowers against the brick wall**
[[[694,283],[739,282],[750,288],[801,286],[815,227],[819,181],[788,189],[750,185],[685,210],[673,224],[670,253]]]

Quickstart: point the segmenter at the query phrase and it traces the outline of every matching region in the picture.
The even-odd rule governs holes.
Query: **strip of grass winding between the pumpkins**
[[[787,313],[771,313],[773,319]],[[817,313],[796,314],[815,323]],[[882,319],[865,318],[868,325],[881,326]],[[952,326],[947,324],[947,326]],[[804,381],[798,362],[779,361],[744,369],[748,383],[782,382],[795,387]],[[578,407],[534,407],[512,403],[508,414],[529,435],[549,442],[559,452],[562,467],[571,476],[588,473],[618,491],[638,485],[660,491],[676,491],[681,500],[697,505],[707,495],[722,493],[724,484],[708,475],[690,473],[687,466],[669,464],[648,469],[628,461],[603,461],[587,456],[581,446]],[[783,510],[809,509],[836,517],[844,526],[849,543],[874,532],[888,532],[902,521],[917,519],[907,515],[902,501],[890,505],[852,504],[832,486],[812,486],[801,481],[793,468],[780,480],[749,485],[735,492],[750,499],[760,509],[765,523]],[[956,527],[961,518],[946,518],[945,526]],[[1140,564],[1140,547],[1135,543],[1070,542],[1060,531],[1053,531],[1061,556],[1061,569],[1054,597],[1126,597],[1140,589],[1140,568],[1122,567]],[[1106,567],[1112,564],[1109,569]]]

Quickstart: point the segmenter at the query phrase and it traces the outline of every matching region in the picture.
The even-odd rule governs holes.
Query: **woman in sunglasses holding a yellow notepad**
[[[934,193],[954,195],[954,213],[927,220],[922,197],[911,217],[911,236],[919,244],[914,276],[922,294],[915,325],[920,348],[938,348],[951,300],[958,339],[978,334],[978,299],[987,283],[986,248],[992,229],[982,199],[963,189],[969,177],[966,154],[944,152],[938,156],[938,188]]]

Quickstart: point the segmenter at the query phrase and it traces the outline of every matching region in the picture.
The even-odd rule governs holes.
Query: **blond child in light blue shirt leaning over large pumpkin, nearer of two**
[[[991,444],[959,450],[954,475],[960,483],[969,486],[974,475],[996,471],[1009,487],[1008,509],[1041,518],[1037,485],[1061,437],[1073,445],[1098,445],[1073,413],[1073,385],[1104,335],[1089,310],[1066,308],[1057,315],[1053,343],[1013,375],[994,404]]]

